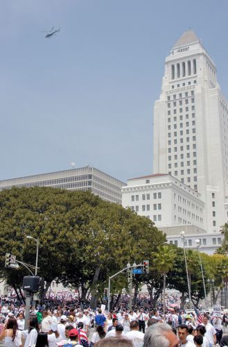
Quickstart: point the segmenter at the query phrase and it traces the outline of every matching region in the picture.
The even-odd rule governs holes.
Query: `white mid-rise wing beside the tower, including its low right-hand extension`
[[[122,188],[122,205],[155,222],[166,233],[169,244],[213,254],[221,246],[223,235],[204,230],[204,201],[200,193],[169,174],[130,178]],[[185,233],[183,244],[180,232]]]

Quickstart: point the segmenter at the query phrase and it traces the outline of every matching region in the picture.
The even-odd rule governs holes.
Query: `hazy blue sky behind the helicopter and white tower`
[[[189,27],[228,96],[227,12],[227,0],[1,0],[0,179],[72,161],[150,174],[164,61]]]

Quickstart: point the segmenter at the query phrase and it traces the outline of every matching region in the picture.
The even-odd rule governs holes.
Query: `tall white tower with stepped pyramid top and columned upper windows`
[[[228,220],[228,108],[216,66],[193,31],[166,58],[154,108],[153,171],[200,192],[207,232]]]

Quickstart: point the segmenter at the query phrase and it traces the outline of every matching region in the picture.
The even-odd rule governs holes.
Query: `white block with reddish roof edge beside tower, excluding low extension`
[[[168,174],[129,179],[122,188],[122,205],[150,218],[158,228],[204,227],[204,202],[200,194]]]

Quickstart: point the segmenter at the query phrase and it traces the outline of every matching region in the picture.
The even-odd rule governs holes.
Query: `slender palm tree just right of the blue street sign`
[[[155,253],[155,266],[163,275],[163,312],[166,311],[166,274],[173,269],[175,257],[175,248],[169,245],[159,246]]]

